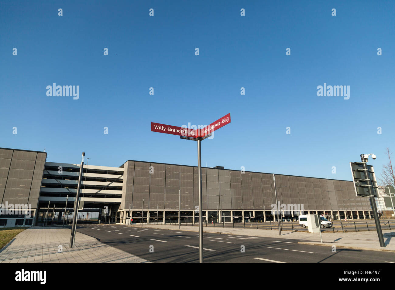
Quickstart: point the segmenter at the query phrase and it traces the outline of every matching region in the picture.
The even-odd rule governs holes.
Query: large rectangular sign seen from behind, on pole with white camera
[[[357,196],[369,196],[368,190],[368,180],[372,183],[372,193],[374,196],[378,195],[378,186],[376,181],[376,175],[374,174],[374,169],[372,165],[367,165],[369,171],[369,176],[366,175],[363,169],[363,164],[361,162],[350,162],[350,168],[352,173],[352,178],[354,181],[355,194]]]

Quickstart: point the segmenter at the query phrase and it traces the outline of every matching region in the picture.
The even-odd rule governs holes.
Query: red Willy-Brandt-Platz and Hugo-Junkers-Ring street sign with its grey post
[[[198,184],[199,184],[199,262],[203,263],[203,219],[202,219],[202,189],[201,189],[201,140],[211,136],[211,133],[230,123],[230,113],[207,125],[203,129],[189,129],[151,123],[151,131],[179,135],[181,139],[198,141]]]

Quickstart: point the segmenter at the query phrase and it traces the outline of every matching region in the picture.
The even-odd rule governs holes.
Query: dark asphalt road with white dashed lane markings
[[[204,228],[203,228],[204,230]],[[197,232],[125,225],[80,225],[77,232],[150,262],[199,262]],[[204,233],[205,263],[384,263],[395,253],[298,244],[297,240]],[[78,235],[78,233],[77,233]],[[153,253],[150,253],[150,249]],[[245,252],[242,253],[242,246]]]

